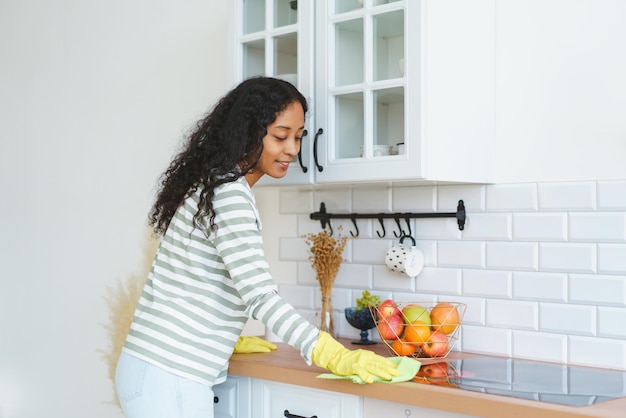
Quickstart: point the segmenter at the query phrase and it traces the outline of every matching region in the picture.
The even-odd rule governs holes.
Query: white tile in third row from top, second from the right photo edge
[[[539,269],[570,273],[594,273],[597,270],[595,244],[539,245]]]

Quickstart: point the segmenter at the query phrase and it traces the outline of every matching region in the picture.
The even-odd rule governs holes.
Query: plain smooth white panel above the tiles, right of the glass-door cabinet
[[[626,2],[498,0],[495,181],[626,179]]]

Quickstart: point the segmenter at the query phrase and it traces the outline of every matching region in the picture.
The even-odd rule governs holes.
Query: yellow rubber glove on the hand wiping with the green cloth
[[[324,331],[320,331],[312,360],[336,375],[357,375],[367,383],[374,382],[372,375],[389,380],[400,374],[398,366],[390,360],[369,350],[348,350]]]

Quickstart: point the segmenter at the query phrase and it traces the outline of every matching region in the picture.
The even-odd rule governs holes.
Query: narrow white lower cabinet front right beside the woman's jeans
[[[215,418],[249,418],[251,386],[251,378],[235,375],[214,386]]]

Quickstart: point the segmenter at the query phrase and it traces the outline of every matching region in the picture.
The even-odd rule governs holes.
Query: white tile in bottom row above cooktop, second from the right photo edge
[[[567,336],[547,332],[513,331],[513,356],[565,363]]]

